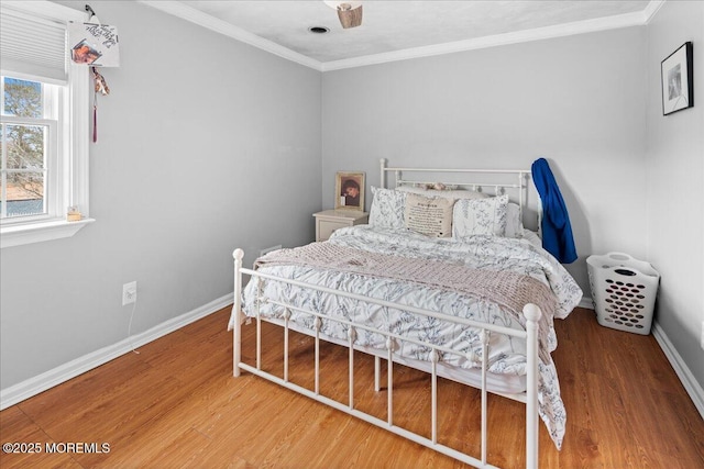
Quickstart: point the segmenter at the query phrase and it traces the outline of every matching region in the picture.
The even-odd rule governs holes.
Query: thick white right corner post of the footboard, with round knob
[[[540,308],[528,303],[524,306],[526,316],[527,377],[526,377],[526,468],[538,467],[538,321]]]

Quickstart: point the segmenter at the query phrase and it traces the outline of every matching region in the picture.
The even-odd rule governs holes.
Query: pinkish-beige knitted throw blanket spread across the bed
[[[392,278],[443,290],[459,291],[504,306],[525,325],[522,308],[537,304],[542,311],[539,322],[539,353],[549,362],[548,333],[554,313],[554,298],[540,281],[508,270],[482,270],[462,264],[370,253],[331,243],[311,243],[293,249],[279,249],[260,257],[254,269],[274,265],[307,266],[360,273],[373,278]]]

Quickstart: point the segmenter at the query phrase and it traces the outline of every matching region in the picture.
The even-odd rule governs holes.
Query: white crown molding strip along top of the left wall
[[[285,59],[295,62],[306,67],[315,68],[318,71],[322,71],[322,67],[318,60],[307,57],[302,54],[298,54],[287,47],[280,46],[270,40],[252,34],[249,31],[244,31],[241,27],[234,26],[220,19],[210,16],[199,10],[196,10],[179,1],[154,1],[154,0],[139,0],[139,3],[146,4],[156,10],[161,10],[165,13],[198,24],[199,26],[207,27],[216,33],[223,34],[232,37],[251,46],[261,48],[271,54],[277,55]]]

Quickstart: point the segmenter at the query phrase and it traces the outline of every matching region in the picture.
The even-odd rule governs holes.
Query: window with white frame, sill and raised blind
[[[48,1],[0,3],[2,247],[73,236],[88,217],[89,70],[68,60],[66,24],[85,13]],[[82,213],[67,222],[68,206]]]

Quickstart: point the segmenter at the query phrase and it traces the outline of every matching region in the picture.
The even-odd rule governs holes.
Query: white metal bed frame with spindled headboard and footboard
[[[504,169],[498,169],[498,170],[494,170],[494,169],[486,169],[486,170],[472,170],[472,169],[429,169],[429,168],[389,168],[386,167],[386,160],[382,159],[381,161],[381,176],[382,176],[382,186],[386,186],[385,181],[386,181],[386,174],[393,171],[396,176],[396,186],[400,186],[400,185],[407,185],[407,183],[415,183],[415,182],[419,182],[419,181],[410,181],[410,180],[404,180],[403,179],[403,172],[413,172],[413,171],[418,171],[418,172],[425,172],[425,174],[430,174],[430,172],[439,172],[439,174],[453,174],[453,172],[459,172],[459,174],[474,174],[474,175],[496,175],[496,174],[504,174],[504,175],[515,175],[518,178],[518,182],[517,183],[486,183],[486,182],[454,182],[458,183],[459,186],[462,187],[470,187],[473,188],[474,190],[481,189],[481,188],[494,188],[496,193],[502,193],[503,191],[505,191],[506,189],[516,189],[518,191],[518,202],[519,202],[519,206],[521,209],[525,208],[526,204],[526,177],[527,175],[530,175],[530,171],[527,170],[504,170]],[[514,399],[520,402],[524,402],[526,404],[526,467],[527,468],[537,468],[538,467],[538,321],[540,320],[541,316],[541,311],[540,309],[532,304],[532,303],[528,303],[524,306],[522,313],[526,316],[526,330],[525,331],[517,331],[517,330],[512,330],[512,328],[507,328],[507,327],[502,327],[502,326],[496,326],[493,324],[484,324],[484,323],[479,323],[475,321],[470,321],[470,320],[465,320],[462,317],[453,317],[453,316],[448,316],[444,315],[442,313],[438,313],[438,312],[433,312],[433,311],[429,311],[429,310],[424,310],[424,309],[419,309],[419,308],[414,308],[414,306],[406,306],[406,305],[399,305],[389,301],[384,301],[384,300],[376,300],[373,298],[367,298],[367,297],[363,297],[363,295],[359,295],[355,293],[349,293],[349,292],[343,292],[343,291],[337,291],[330,288],[326,288],[326,287],[320,287],[320,286],[316,286],[316,284],[310,284],[310,283],[305,283],[305,282],[300,282],[297,280],[290,280],[290,279],[283,279],[283,278],[278,278],[272,275],[267,275],[267,273],[263,273],[256,270],[252,270],[252,269],[245,269],[242,267],[242,259],[244,257],[244,252],[242,249],[235,249],[233,252],[233,258],[234,258],[234,305],[233,305],[233,313],[235,321],[233,321],[233,376],[234,377],[239,377],[241,371],[249,371],[253,375],[256,375],[258,377],[265,378],[272,382],[275,382],[279,386],[283,386],[287,389],[290,389],[293,391],[296,391],[300,394],[307,395],[311,399],[315,399],[318,402],[321,402],[326,405],[329,405],[331,407],[334,407],[337,410],[340,410],[342,412],[345,412],[350,415],[353,415],[355,417],[359,417],[365,422],[369,422],[371,424],[374,424],[378,427],[385,428],[396,435],[399,435],[402,437],[405,437],[407,439],[410,439],[415,443],[418,443],[422,446],[426,446],[428,448],[435,449],[441,454],[444,454],[447,456],[450,456],[457,460],[460,460],[462,462],[469,464],[471,466],[474,467],[479,467],[479,468],[492,468],[494,466],[491,466],[487,462],[487,437],[488,437],[488,427],[487,427],[487,393],[492,392],[487,389],[487,383],[486,383],[486,375],[487,375],[487,364],[486,364],[486,357],[488,356],[488,336],[491,333],[498,333],[498,334],[505,334],[505,335],[509,335],[509,336],[514,336],[514,337],[518,337],[521,339],[526,339],[527,342],[527,375],[526,375],[526,391],[524,393],[519,393],[519,394],[506,394],[506,393],[497,393],[499,395],[504,395],[507,397],[509,399]],[[242,284],[242,276],[243,275],[249,275],[251,276],[251,281],[257,281],[257,286],[258,286],[258,291],[262,291],[262,282],[264,280],[273,280],[273,281],[278,281],[278,282],[284,282],[284,283],[288,283],[292,286],[297,286],[297,287],[301,287],[301,288],[307,288],[307,289],[311,289],[311,290],[317,290],[323,293],[329,293],[329,294],[334,294],[334,295],[339,295],[339,297],[344,297],[344,298],[350,298],[353,300],[358,300],[358,301],[362,301],[362,302],[366,302],[366,303],[372,303],[372,304],[377,304],[381,306],[386,306],[386,308],[394,308],[400,311],[407,311],[410,313],[415,313],[415,314],[421,314],[425,316],[430,316],[430,317],[436,317],[436,319],[440,319],[442,321],[446,322],[451,322],[451,323],[455,323],[455,324],[463,324],[463,325],[468,325],[468,326],[472,326],[472,327],[476,327],[479,330],[483,331],[482,334],[482,344],[483,344],[483,351],[482,351],[482,357],[481,357],[481,362],[482,362],[482,377],[481,377],[481,407],[482,407],[482,427],[481,427],[481,455],[477,457],[475,456],[471,456],[464,453],[461,453],[454,448],[448,447],[446,445],[439,444],[438,443],[438,392],[437,392],[437,381],[438,381],[438,369],[437,369],[437,362],[438,362],[438,353],[442,351],[442,353],[449,353],[449,354],[457,354],[457,355],[463,355],[460,351],[443,347],[443,346],[438,346],[438,345],[433,345],[430,343],[426,343],[424,340],[416,340],[416,339],[410,339],[407,337],[402,337],[398,336],[394,333],[391,332],[385,332],[385,331],[378,331],[374,327],[370,327],[365,324],[361,324],[361,323],[354,323],[352,321],[348,321],[348,320],[343,320],[343,319],[338,319],[338,317],[329,317],[324,314],[315,312],[315,311],[309,311],[309,310],[302,310],[300,308],[294,306],[292,304],[286,304],[286,303],[282,303],[279,301],[277,301],[276,299],[270,299],[270,298],[264,298],[261,295],[256,299],[256,357],[255,357],[255,365],[249,365],[242,361],[241,357],[242,357],[242,353],[241,353],[241,347],[242,347],[242,321],[240,321],[240,314],[239,312],[242,309],[242,289],[243,289],[243,284]],[[279,324],[279,322],[277,321],[273,321],[273,320],[267,320],[265,317],[262,317],[260,315],[260,305],[263,304],[264,302],[268,302],[272,304],[276,304],[278,306],[284,308],[284,320],[283,320],[283,327],[284,327],[284,356],[283,356],[283,361],[284,361],[284,371],[283,371],[283,379],[271,375],[264,370],[262,370],[262,321],[267,321],[274,324]],[[299,313],[305,313],[305,314],[309,314],[311,316],[315,316],[315,327],[316,330],[314,332],[307,332],[307,331],[300,331],[302,333],[306,333],[308,335],[311,335],[315,337],[315,383],[314,383],[314,389],[309,390],[307,388],[300,387],[296,383],[293,383],[288,380],[288,342],[289,342],[289,331],[292,330],[290,324],[289,324],[289,319],[290,319],[290,312],[292,311],[296,311]],[[336,321],[342,324],[345,324],[349,327],[349,334],[348,334],[348,344],[346,347],[349,348],[349,398],[348,398],[348,404],[344,405],[336,400],[332,400],[330,398],[327,398],[326,395],[322,395],[320,393],[320,389],[319,389],[319,359],[320,359],[320,355],[319,355],[319,350],[320,350],[320,340],[323,339],[320,336],[320,327],[322,324],[322,321]],[[366,414],[358,409],[355,409],[354,405],[354,350],[355,349],[360,349],[360,347],[358,347],[355,345],[355,336],[356,336],[356,330],[366,330],[370,332],[374,332],[377,334],[381,334],[383,336],[386,337],[386,353],[385,353],[385,358],[387,360],[387,418],[384,421],[382,418],[378,418],[376,416]],[[394,344],[396,340],[405,340],[405,342],[413,342],[417,345],[421,345],[425,347],[430,348],[432,351],[431,354],[431,422],[430,422],[430,438],[427,438],[422,435],[413,433],[406,428],[403,428],[400,426],[397,426],[394,424],[394,412],[393,412],[393,362],[394,362]],[[384,355],[384,353],[380,353],[380,355]],[[374,371],[374,388],[375,391],[380,391],[381,387],[380,387],[380,355],[375,355],[375,371]],[[470,356],[468,357],[469,359],[474,359],[476,357]]]

